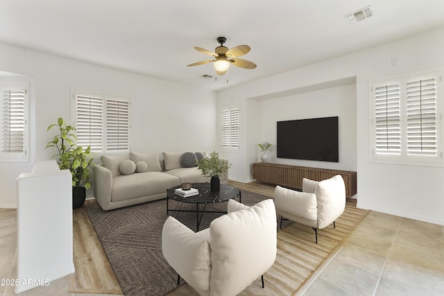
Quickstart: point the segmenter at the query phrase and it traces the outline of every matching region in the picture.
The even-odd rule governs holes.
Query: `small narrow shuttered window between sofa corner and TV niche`
[[[222,148],[239,148],[239,108],[222,111]]]

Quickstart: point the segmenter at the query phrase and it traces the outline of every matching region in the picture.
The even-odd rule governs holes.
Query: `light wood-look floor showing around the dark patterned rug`
[[[275,186],[257,182],[249,184],[229,181],[231,186],[246,189],[273,197]],[[351,204],[350,204],[351,202]],[[364,210],[356,209],[353,201],[348,200],[343,216],[336,221],[336,229],[327,227],[318,232],[319,243],[314,242],[314,231],[310,227],[293,225],[278,232],[278,259],[266,272],[266,289],[260,281],[253,283],[241,295],[293,295],[303,284],[307,284],[313,270],[319,267],[326,256],[350,232],[359,217],[365,216]],[[99,238],[87,216],[87,210],[99,207],[95,200],[87,200],[80,209],[74,210],[74,265],[76,273],[69,276],[71,293],[106,293],[122,295],[119,281],[114,275],[108,258],[103,251]],[[295,239],[293,233],[302,236]],[[198,295],[187,284],[182,284],[169,296]]]

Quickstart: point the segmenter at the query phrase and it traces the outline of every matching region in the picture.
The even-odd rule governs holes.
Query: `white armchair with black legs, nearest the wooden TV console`
[[[282,218],[314,229],[318,243],[318,229],[323,229],[342,215],[345,209],[345,184],[341,175],[321,182],[304,178],[302,192],[275,188],[276,212]]]

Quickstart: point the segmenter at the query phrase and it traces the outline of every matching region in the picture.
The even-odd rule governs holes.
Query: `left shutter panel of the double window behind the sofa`
[[[103,150],[103,98],[76,96],[77,145]]]

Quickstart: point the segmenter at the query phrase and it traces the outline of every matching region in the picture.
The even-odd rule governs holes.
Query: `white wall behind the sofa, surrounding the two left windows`
[[[149,67],[149,65],[146,65]],[[135,152],[216,149],[216,94],[211,91],[99,67],[54,55],[0,44],[0,71],[30,76],[31,161],[0,162],[0,207],[17,206],[16,180],[32,171],[36,160],[50,159],[45,150],[51,123],[71,120],[71,89],[130,97],[131,147]],[[91,196],[89,190],[88,196]]]

